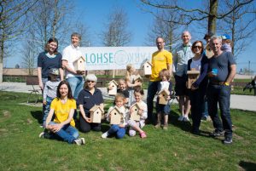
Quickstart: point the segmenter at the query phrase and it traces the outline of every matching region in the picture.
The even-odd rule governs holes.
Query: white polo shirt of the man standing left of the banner
[[[67,46],[63,49],[62,60],[67,60],[67,64],[70,68],[74,70],[73,62],[78,60],[79,57],[83,56],[82,52],[79,50],[79,47],[74,47],[73,44]],[[68,77],[82,77],[82,75],[75,75],[66,70],[66,78]]]

